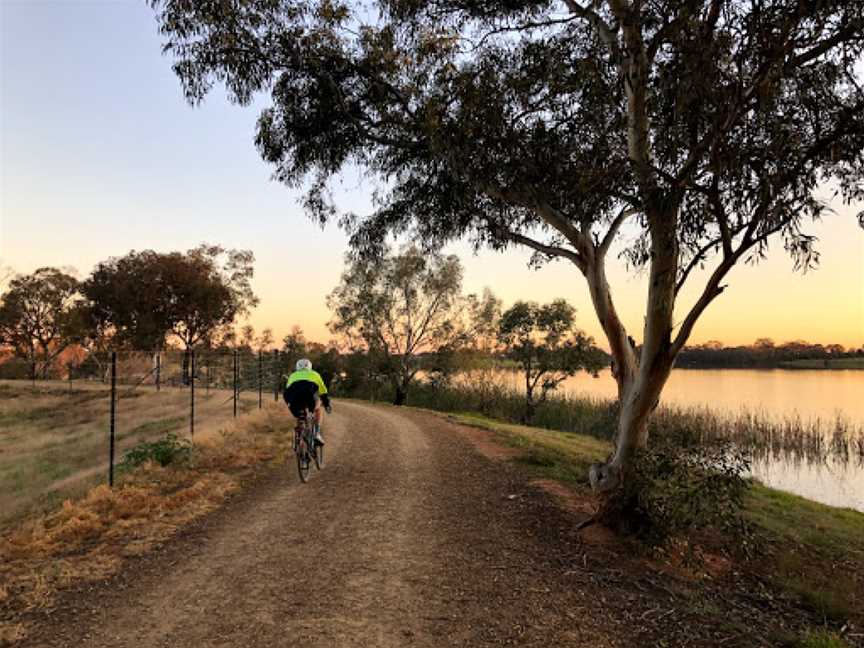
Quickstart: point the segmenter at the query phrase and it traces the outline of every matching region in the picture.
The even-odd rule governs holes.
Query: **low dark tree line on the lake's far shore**
[[[864,358],[864,347],[846,349],[841,344],[811,344],[803,340],[775,344],[771,338],[759,338],[751,345],[727,347],[713,340],[685,347],[675,366],[682,369],[773,368],[800,360],[839,358]]]

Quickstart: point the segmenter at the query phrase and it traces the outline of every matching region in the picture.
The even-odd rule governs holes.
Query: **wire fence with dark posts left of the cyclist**
[[[123,453],[165,434],[214,433],[281,398],[286,354],[233,351],[90,353],[51,380],[0,380],[0,521],[53,504]]]

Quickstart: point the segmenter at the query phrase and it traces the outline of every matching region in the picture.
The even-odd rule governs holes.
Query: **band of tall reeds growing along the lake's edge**
[[[352,395],[376,399],[384,392]],[[471,384],[420,382],[408,394],[408,404],[444,412],[479,412],[485,416],[524,422],[525,397],[516,388],[480,377]],[[615,435],[618,407],[614,401],[570,394],[553,394],[537,406],[530,423],[536,427],[587,434],[600,439]],[[649,434],[688,433],[705,439],[731,439],[755,461],[790,463],[835,461],[864,467],[864,426],[838,416],[834,420],[775,418],[742,410],[718,413],[708,408],[662,406],[649,423]]]

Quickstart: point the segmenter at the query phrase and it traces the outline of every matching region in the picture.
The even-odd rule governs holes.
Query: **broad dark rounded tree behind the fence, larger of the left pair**
[[[86,328],[111,331],[115,343],[141,350],[162,348],[169,334],[187,349],[210,342],[257,303],[249,284],[253,260],[248,251],[202,245],[185,254],[132,251],[99,263],[82,284]]]

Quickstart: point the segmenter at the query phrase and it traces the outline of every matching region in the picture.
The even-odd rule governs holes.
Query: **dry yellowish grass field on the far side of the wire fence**
[[[118,389],[116,457],[166,432],[188,434],[189,392]],[[196,436],[232,418],[231,392],[196,393]],[[244,394],[241,409],[257,396]],[[50,510],[107,476],[108,391],[100,383],[0,384],[0,526],[34,510]]]

